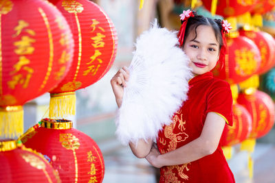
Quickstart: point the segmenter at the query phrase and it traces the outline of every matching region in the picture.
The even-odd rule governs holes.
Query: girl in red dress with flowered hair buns
[[[223,64],[226,21],[181,14],[179,45],[190,58],[195,75],[189,82],[188,99],[174,114],[173,123],[163,127],[157,138],[129,144],[133,154],[160,168],[159,182],[234,182],[223,156],[220,138],[225,123],[232,125],[232,94],[227,82],[210,72]],[[129,71],[123,67],[111,80],[120,107]]]

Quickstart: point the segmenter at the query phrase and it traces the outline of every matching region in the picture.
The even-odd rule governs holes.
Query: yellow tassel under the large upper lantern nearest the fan
[[[76,93],[51,93],[49,117],[67,117],[76,114]]]

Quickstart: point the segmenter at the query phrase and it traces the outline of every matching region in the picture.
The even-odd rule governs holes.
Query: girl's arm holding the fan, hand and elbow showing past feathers
[[[111,79],[111,86],[113,88],[113,94],[115,95],[115,101],[120,108],[122,104],[122,98],[124,93],[124,87],[126,82],[129,80],[129,71],[126,66],[122,67]],[[137,158],[145,158],[152,147],[153,140],[148,139],[147,142],[144,140],[137,141],[137,145],[129,143],[131,150]]]

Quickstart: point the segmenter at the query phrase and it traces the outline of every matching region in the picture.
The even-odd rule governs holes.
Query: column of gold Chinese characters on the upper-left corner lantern
[[[34,69],[29,66],[30,60],[28,59],[28,55],[34,52],[32,43],[36,42],[36,40],[32,36],[35,36],[35,32],[32,29],[28,29],[28,27],[29,23],[23,20],[20,20],[18,25],[14,27],[15,33],[12,35],[12,38],[20,36],[20,39],[13,43],[16,47],[14,53],[19,56],[19,60],[13,66],[14,70],[10,72],[12,80],[8,81],[8,87],[11,89],[14,89],[17,84],[21,84],[22,88],[28,88],[30,78],[34,73]]]

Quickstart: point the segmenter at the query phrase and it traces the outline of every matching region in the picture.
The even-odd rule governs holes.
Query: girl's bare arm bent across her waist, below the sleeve
[[[217,149],[224,125],[225,120],[219,114],[208,112],[199,138],[166,154],[159,154],[159,151],[153,147],[146,160],[154,167],[160,168],[185,164],[208,156]]]

